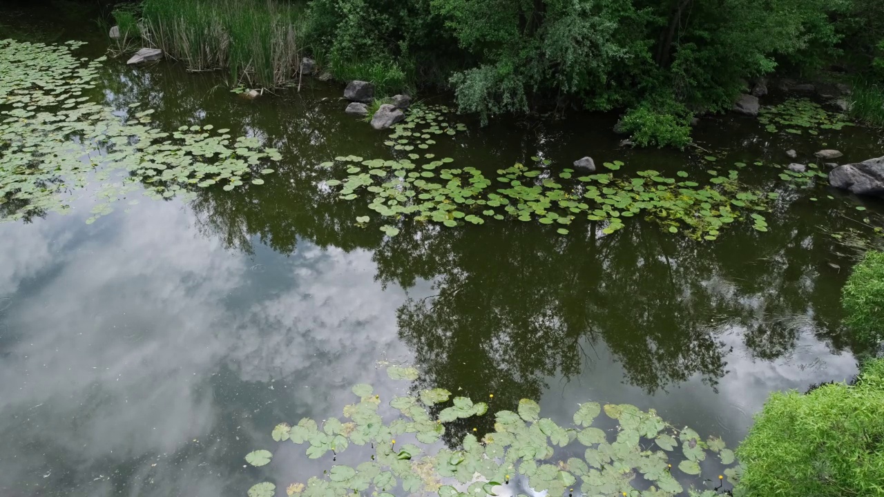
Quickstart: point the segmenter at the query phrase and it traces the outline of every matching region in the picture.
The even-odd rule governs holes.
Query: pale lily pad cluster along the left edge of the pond
[[[101,183],[93,218],[133,191],[169,198],[193,187],[260,185],[262,164],[281,157],[227,129],[150,126],[153,110],[132,104],[121,119],[91,102],[105,57],[73,57],[62,45],[0,40],[0,206],[7,219],[70,209],[73,187]],[[10,207],[11,206],[11,207]]]

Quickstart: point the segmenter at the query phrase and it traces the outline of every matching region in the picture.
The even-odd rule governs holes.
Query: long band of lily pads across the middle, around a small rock
[[[701,186],[688,180],[689,174],[683,171],[677,173],[678,180],[653,170],[629,179],[615,178],[613,172],[584,175],[568,168],[556,174],[545,171],[549,161],[532,157],[537,167],[514,164],[498,170],[497,178],[491,180],[474,167],[451,167],[450,157],[436,159],[426,154],[424,159],[418,164],[412,158],[347,156],[321,165],[346,167],[347,178],[326,181],[330,187],[340,187],[344,200],[359,198],[357,192],[364,190],[371,194],[370,209],[384,218],[409,217],[449,227],[514,218],[556,225],[558,233],[568,234],[566,226],[582,216],[605,223],[603,232],[613,233],[624,226],[624,218],[644,215],[668,232],[715,240],[721,229],[744,217],[743,211],[759,216],[768,199],[761,192],[742,188],[735,170],[721,176],[713,171],[716,176],[711,184]],[[617,171],[623,163],[604,165]],[[365,224],[370,218],[356,221]],[[390,224],[381,230],[388,235],[399,233]]]

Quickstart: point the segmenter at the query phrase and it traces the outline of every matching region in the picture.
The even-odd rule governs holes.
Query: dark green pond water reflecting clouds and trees
[[[17,26],[48,15],[5,13]],[[57,41],[103,53],[91,26],[50,26]],[[343,114],[338,84],[248,102],[217,83],[169,62],[114,62],[101,90],[120,109],[156,109],[167,129],[263,138],[284,157],[265,185],[141,199],[87,225],[92,185],[70,216],[0,224],[0,494],[233,496],[260,478],[281,494],[328,462],[282,455],[259,470],[242,456],[273,446],[281,421],[339,414],[355,383],[494,394],[492,412],[528,397],[562,422],[577,402],[629,402],[735,445],[771,391],[856,371],[839,303],[852,263],[823,230],[861,227],[865,201],[758,168],[741,179],[781,192],[769,233],[743,223],[699,243],[634,218],[611,235],[584,224],[567,236],[516,221],[407,221],[386,238],[364,202],[321,185],[331,176],[317,164],[331,157],[392,157],[385,134]],[[488,172],[585,155],[622,160],[624,174],[709,168],[705,153],[619,149],[613,120],[466,119],[468,133],[432,151]],[[882,155],[869,130],[772,137],[733,116],[705,120],[697,141],[730,163],[786,162],[786,149]],[[369,226],[354,224],[370,213]],[[393,383],[382,361],[421,376]]]

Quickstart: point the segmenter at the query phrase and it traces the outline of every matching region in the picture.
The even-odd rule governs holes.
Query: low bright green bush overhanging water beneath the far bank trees
[[[644,101],[623,115],[620,126],[632,134],[639,147],[675,147],[690,144],[690,120],[693,114],[672,97]]]

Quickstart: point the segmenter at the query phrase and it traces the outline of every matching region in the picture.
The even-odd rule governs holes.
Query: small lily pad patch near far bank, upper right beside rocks
[[[819,134],[820,129],[840,130],[844,126],[854,126],[843,118],[841,114],[826,111],[806,98],[789,99],[758,111],[758,122],[765,125],[770,133],[777,133],[782,128],[790,134],[802,134],[804,131]]]

